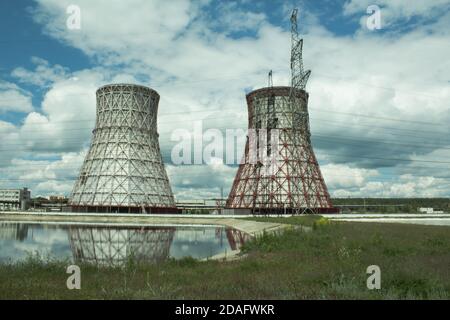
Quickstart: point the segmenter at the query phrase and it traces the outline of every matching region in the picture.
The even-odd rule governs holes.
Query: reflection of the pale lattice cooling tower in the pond
[[[122,266],[130,258],[157,263],[169,257],[174,228],[73,227],[69,230],[75,262]]]

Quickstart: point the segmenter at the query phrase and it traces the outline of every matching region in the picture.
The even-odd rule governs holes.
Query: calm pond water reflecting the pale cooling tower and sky
[[[130,257],[157,263],[204,259],[237,250],[248,239],[222,226],[145,226],[0,223],[0,263],[30,254],[96,265],[123,265]]]

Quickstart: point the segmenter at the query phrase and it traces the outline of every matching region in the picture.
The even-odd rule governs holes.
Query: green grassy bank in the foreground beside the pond
[[[329,222],[315,216],[258,218],[313,227],[248,242],[238,261],[192,258],[124,268],[81,265],[68,290],[69,262],[42,257],[0,265],[1,299],[449,299],[450,229]],[[381,268],[381,290],[366,269]]]

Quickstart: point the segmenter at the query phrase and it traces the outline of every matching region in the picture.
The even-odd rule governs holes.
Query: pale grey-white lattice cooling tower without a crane
[[[173,212],[156,117],[159,94],[111,84],[97,90],[93,139],[70,205],[77,212]]]

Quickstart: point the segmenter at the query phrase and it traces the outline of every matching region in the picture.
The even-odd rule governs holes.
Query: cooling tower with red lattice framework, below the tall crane
[[[336,212],[310,141],[308,93],[291,87],[268,87],[247,94],[249,129],[226,207],[254,213]],[[293,100],[290,100],[293,99]],[[259,134],[266,132],[267,143]],[[271,136],[277,136],[273,145]],[[269,162],[254,161],[267,152]],[[268,167],[270,166],[270,168]]]

